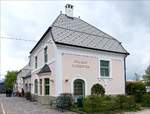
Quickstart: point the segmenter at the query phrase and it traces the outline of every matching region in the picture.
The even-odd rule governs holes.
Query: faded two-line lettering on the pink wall
[[[74,60],[72,63],[73,68],[90,68],[88,61],[84,60]]]

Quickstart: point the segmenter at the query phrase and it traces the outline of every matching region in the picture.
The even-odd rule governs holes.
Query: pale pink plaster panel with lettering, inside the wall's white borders
[[[105,87],[106,94],[124,94],[123,62],[110,59],[111,78],[103,79],[99,75],[100,58],[73,54],[62,55],[62,92],[73,92],[73,80],[85,80],[85,94],[91,94],[93,84],[100,83]],[[67,81],[68,80],[68,81]]]

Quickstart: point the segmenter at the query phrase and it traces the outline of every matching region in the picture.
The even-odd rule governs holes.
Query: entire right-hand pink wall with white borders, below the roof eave
[[[73,93],[73,81],[79,78],[86,82],[86,95],[90,95],[91,87],[96,83],[100,83],[105,87],[106,94],[125,94],[125,55],[62,45],[57,46],[59,53],[58,69],[60,72],[58,77],[61,79],[58,85],[61,89],[58,93]],[[76,64],[76,60],[83,62],[83,64]],[[100,77],[100,60],[110,61],[110,78]],[[66,82],[66,80],[68,81]]]

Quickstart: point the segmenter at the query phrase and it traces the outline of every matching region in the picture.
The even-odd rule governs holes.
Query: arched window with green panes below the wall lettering
[[[74,81],[74,95],[75,96],[84,96],[85,95],[85,82],[81,79],[76,79]]]

